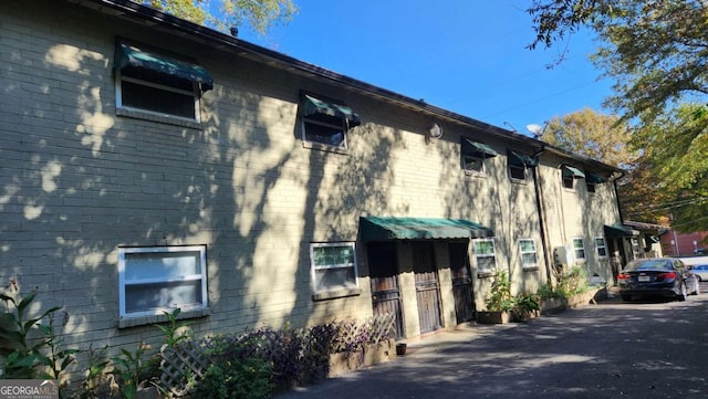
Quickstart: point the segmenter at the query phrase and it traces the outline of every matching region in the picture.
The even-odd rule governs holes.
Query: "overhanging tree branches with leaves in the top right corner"
[[[652,124],[686,98],[708,94],[708,4],[702,0],[533,0],[533,49],[590,28],[593,57],[615,80],[607,105]]]

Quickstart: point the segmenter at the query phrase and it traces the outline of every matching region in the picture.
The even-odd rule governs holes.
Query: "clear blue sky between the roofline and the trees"
[[[606,113],[611,82],[587,59],[591,38],[525,49],[530,0],[294,1],[289,24],[240,38],[522,134],[584,107]],[[566,60],[549,70],[563,49]]]

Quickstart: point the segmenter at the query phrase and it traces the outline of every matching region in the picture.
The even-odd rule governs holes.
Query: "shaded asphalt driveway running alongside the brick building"
[[[409,349],[277,398],[708,398],[708,293],[611,298],[530,323],[438,334]]]

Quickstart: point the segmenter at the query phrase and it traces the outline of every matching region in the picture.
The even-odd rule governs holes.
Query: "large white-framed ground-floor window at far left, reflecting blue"
[[[118,249],[121,318],[207,307],[207,248]]]

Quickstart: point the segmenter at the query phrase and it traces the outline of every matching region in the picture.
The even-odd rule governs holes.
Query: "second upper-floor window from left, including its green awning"
[[[350,107],[335,101],[302,94],[302,141],[309,148],[346,150],[346,133],[361,120]]]

